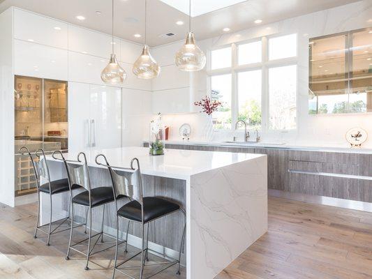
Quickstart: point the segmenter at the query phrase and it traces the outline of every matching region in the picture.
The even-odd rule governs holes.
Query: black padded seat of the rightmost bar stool
[[[165,216],[179,209],[179,205],[159,197],[143,198],[144,223]],[[128,202],[121,206],[117,214],[129,220],[142,222],[141,204],[137,201]]]

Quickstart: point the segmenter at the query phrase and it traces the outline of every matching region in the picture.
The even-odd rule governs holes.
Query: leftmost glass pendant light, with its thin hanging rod
[[[112,54],[107,66],[102,70],[101,80],[107,84],[119,85],[126,80],[126,71],[121,68],[114,54],[114,0],[112,0]]]

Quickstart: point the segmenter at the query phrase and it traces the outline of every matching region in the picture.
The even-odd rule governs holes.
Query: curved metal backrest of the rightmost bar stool
[[[98,162],[98,158],[100,157],[104,158],[105,164]],[[137,163],[137,167],[134,167],[134,162]],[[115,200],[119,196],[126,196],[135,199],[141,205],[143,204],[140,162],[137,158],[131,160],[130,168],[111,166],[103,154],[96,156],[96,163],[109,169]]]

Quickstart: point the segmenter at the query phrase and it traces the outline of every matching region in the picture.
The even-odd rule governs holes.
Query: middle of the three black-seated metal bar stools
[[[81,160],[81,157],[84,158],[84,160]],[[90,226],[89,237],[87,239],[83,239],[82,241],[79,241],[71,245],[71,242],[73,239],[73,227],[71,227],[66,259],[67,260],[70,259],[69,257],[70,250],[79,252],[80,254],[87,257],[87,264],[85,266],[85,270],[89,270],[88,264],[89,264],[89,257],[91,255],[94,255],[98,252],[103,252],[105,250],[113,248],[116,244],[115,241],[112,241],[112,242],[103,241],[103,234],[104,234],[103,223],[105,221],[105,205],[109,204],[110,202],[114,202],[116,199],[124,198],[125,196],[115,197],[112,187],[96,187],[96,188],[91,187],[91,181],[89,178],[89,167],[87,165],[87,156],[85,156],[84,152],[80,152],[77,154],[77,160],[66,160],[63,155],[61,155],[61,158],[57,158],[56,154],[53,155],[53,158],[57,160],[64,160],[64,163],[66,166],[66,172],[68,176],[68,183],[70,184],[71,188],[74,188],[75,186],[80,186],[85,189],[82,193],[79,193],[73,196],[71,199],[71,211],[72,211],[71,218],[73,221],[74,220],[74,204],[84,206],[87,208],[87,212],[89,212],[89,226]],[[92,232],[91,210],[94,208],[97,208],[98,206],[103,206],[101,232],[98,232],[97,234],[92,235],[91,234]],[[96,240],[94,245],[91,247],[91,239],[95,236],[98,236],[98,239]],[[99,239],[101,239],[101,243],[98,243]],[[80,243],[83,243],[84,241],[88,241],[88,244],[87,245],[80,244]],[[125,241],[121,241],[121,243],[124,243],[124,242]],[[113,245],[110,247],[104,248],[102,250],[93,252],[96,245],[102,244],[102,243],[113,244]],[[81,246],[87,246],[87,252],[82,252],[77,249],[77,247],[81,247]]]

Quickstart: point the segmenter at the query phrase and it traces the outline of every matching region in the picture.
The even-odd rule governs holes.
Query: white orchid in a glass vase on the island
[[[159,113],[155,120],[150,123],[150,137],[149,137],[149,153],[150,155],[163,155],[165,127],[161,121],[161,114]]]

